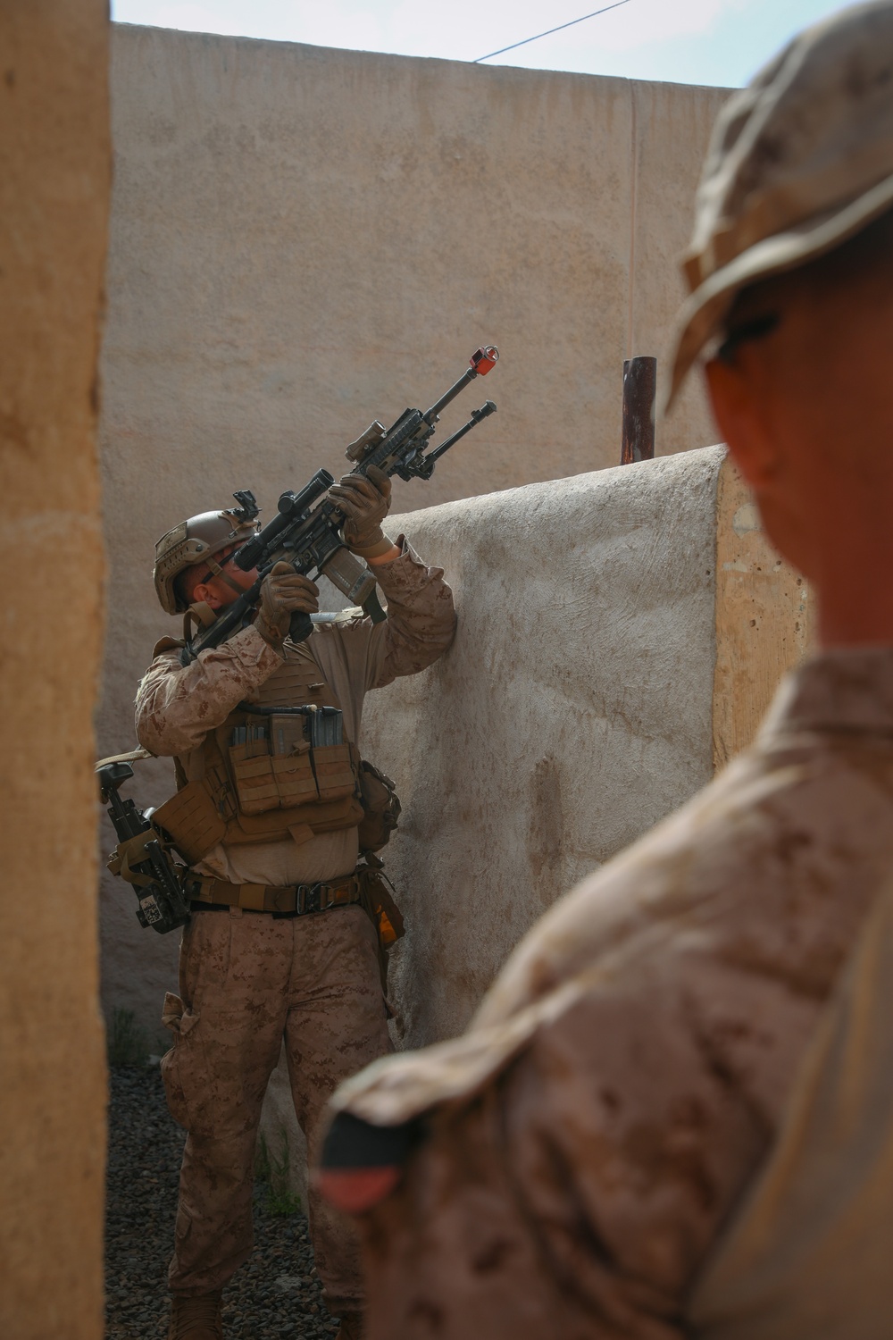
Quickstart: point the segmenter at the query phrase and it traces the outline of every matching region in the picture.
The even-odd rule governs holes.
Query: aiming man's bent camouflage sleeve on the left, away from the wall
[[[139,744],[162,757],[189,753],[281,663],[254,628],[201,651],[190,666],[179,663],[177,651],[163,651],[137,690]]]

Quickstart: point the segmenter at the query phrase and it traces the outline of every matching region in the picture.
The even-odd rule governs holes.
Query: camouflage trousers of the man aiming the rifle
[[[183,934],[179,990],[182,1000],[165,1005],[174,1047],[162,1060],[167,1106],[189,1132],[169,1285],[199,1294],[226,1284],[252,1250],[254,1144],[282,1040],[311,1162],[335,1088],[391,1043],[378,937],[355,906],[277,919],[197,913]],[[313,1191],[309,1222],[329,1306],[356,1308],[353,1229]]]

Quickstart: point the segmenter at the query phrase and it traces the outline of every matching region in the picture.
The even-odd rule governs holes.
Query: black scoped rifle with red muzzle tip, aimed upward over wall
[[[453,437],[426,456],[424,449],[435,431],[440,411],[475,377],[485,377],[498,358],[499,351],[493,344],[485,344],[471,355],[469,368],[459,381],[424,414],[422,410],[404,410],[390,429],[375,419],[344,453],[348,461],[355,462],[351,474],[366,476],[368,468],[376,465],[386,474],[398,474],[402,480],[430,480],[434,465],[443,453],[495,413],[495,405],[487,401],[479,410],[471,411],[471,418]],[[246,615],[260,600],[264,578],[280,561],[291,563],[301,576],[327,576],[352,604],[363,606],[375,622],[384,618],[375,595],[375,578],[349,552],[341,537],[345,513],[333,498],[324,497],[332,484],[335,478],[328,470],[317,470],[300,493],[282,493],[278,515],[233,555],[233,561],[242,572],[257,568],[257,582],[233,604],[226,606],[210,627],[201,630],[186,643],[179,654],[183,665],[194,661],[199,651],[218,647],[238,632]],[[254,494],[242,489],[233,497],[240,504],[236,512],[240,520],[253,521],[258,513]],[[289,636],[293,642],[304,642],[312,627],[311,616],[296,611]]]

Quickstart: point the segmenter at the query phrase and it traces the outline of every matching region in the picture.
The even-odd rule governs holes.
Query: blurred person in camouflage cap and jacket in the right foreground
[[[695,360],[819,599],[756,744],[333,1103],[370,1340],[880,1340],[893,1316],[893,3],[726,106]]]

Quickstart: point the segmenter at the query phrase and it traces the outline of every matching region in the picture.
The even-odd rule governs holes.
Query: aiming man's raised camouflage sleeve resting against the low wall
[[[375,568],[388,616],[374,630],[367,689],[426,670],[455,635],[453,591],[443,580],[443,568],[426,567],[403,535],[395,543],[400,556]]]

